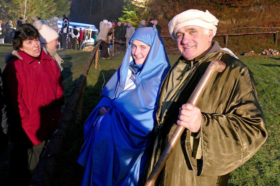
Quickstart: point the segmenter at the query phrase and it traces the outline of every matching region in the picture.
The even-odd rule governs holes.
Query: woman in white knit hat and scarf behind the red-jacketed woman
[[[45,22],[51,23],[54,21],[50,21],[52,19],[47,19]],[[60,56],[56,53],[56,46],[58,43],[58,33],[55,31],[52,25],[43,24],[41,21],[35,21],[33,25],[38,29],[40,33],[40,40],[41,40],[41,48],[50,56],[53,57],[53,59],[56,61],[59,71],[62,72],[63,68],[61,66],[61,63],[63,63],[63,60],[60,58]]]

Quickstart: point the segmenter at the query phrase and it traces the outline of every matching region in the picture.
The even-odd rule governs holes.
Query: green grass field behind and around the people
[[[12,51],[12,46],[0,44],[0,67],[5,68],[4,56]],[[90,52],[59,51],[62,64],[65,102],[69,99],[75,83],[84,69]],[[100,60],[99,68],[90,68],[84,96],[83,118],[79,125],[72,125],[65,140],[63,153],[53,175],[52,185],[79,185],[83,168],[77,163],[79,150],[83,145],[83,122],[99,102],[102,86],[120,66],[124,54],[118,53],[112,60]],[[178,55],[168,55],[173,64]],[[280,185],[280,56],[238,56],[254,74],[260,105],[266,118],[268,139],[257,153],[245,164],[231,173],[229,185]],[[0,181],[1,182],[1,181]]]

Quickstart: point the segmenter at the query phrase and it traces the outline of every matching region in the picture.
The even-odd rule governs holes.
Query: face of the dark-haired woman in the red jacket
[[[26,52],[28,55],[33,57],[38,57],[41,54],[41,46],[38,38],[30,40],[24,40],[22,43],[22,47],[20,47],[21,51]]]

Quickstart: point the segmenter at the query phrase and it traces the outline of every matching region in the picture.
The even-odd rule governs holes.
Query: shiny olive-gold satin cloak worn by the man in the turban
[[[228,173],[251,158],[265,142],[266,124],[253,75],[229,54],[223,50],[212,52],[189,68],[179,59],[166,76],[157,111],[160,126],[153,164],[177,126],[179,107],[187,103],[208,64],[215,59],[226,64],[223,72],[215,73],[196,105],[202,112],[202,124],[193,146],[191,132],[185,130],[156,185],[227,185]],[[195,159],[197,149],[202,150],[200,159]]]

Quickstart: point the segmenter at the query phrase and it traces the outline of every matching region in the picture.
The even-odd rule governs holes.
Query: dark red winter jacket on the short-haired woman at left
[[[40,62],[22,51],[12,54],[2,74],[9,135],[14,143],[37,145],[53,134],[61,118],[62,78],[43,50]]]

